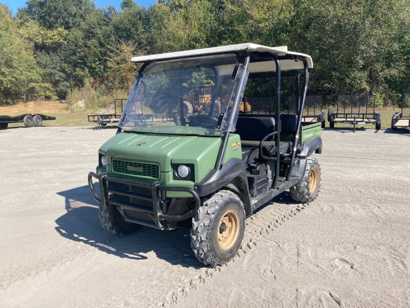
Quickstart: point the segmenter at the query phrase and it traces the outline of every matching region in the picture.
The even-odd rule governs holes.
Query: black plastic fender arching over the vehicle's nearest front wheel
[[[200,197],[203,197],[224,186],[229,187],[229,184],[233,184],[238,189],[245,213],[247,216],[251,215],[247,170],[241,159],[231,158],[219,170],[212,169],[202,181],[194,185],[194,189]]]

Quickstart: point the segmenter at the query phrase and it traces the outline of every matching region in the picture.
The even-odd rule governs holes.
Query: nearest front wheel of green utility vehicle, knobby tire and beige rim
[[[242,201],[234,192],[220,190],[203,202],[192,219],[192,251],[205,265],[224,264],[238,252],[244,230]]]

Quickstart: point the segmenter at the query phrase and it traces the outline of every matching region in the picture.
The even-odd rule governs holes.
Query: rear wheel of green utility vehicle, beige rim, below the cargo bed
[[[304,178],[291,187],[293,200],[306,203],[316,199],[320,190],[321,170],[317,159],[309,158],[304,172]]]

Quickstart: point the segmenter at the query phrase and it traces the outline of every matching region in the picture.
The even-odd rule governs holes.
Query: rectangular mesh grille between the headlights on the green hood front
[[[152,163],[132,162],[120,159],[112,160],[112,171],[117,174],[145,177],[159,180],[159,165]]]

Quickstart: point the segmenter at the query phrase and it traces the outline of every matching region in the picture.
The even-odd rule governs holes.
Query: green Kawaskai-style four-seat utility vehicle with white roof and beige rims
[[[302,121],[309,55],[247,43],[131,61],[144,64],[88,175],[108,232],[190,228],[195,257],[216,266],[235,256],[255,209],[287,189],[317,197],[321,123]]]

